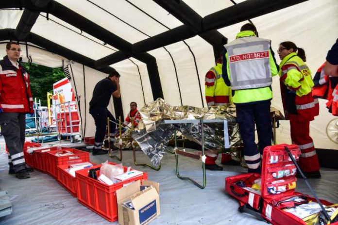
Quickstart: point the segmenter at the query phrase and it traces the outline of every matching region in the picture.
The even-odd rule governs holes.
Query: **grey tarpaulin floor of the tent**
[[[47,174],[34,171],[31,178],[19,180],[8,175],[7,155],[3,138],[0,139],[0,190],[7,190],[13,207],[11,215],[0,218],[1,225],[104,225],[109,223],[100,215],[77,202],[56,180]],[[138,151],[139,162],[146,161]],[[101,163],[115,159],[92,156],[91,161]],[[207,171],[207,186],[199,189],[189,181],[176,177],[175,157],[166,153],[160,171],[134,166],[133,152],[123,152],[123,165],[148,172],[148,179],[160,183],[161,215],[152,225],[258,225],[266,224],[251,215],[238,212],[238,202],[224,193],[224,179],[246,170],[239,166],[223,166],[224,171]],[[180,156],[180,174],[202,181],[202,163]],[[321,179],[310,179],[320,198],[338,203],[338,171],[322,168]],[[297,182],[297,191],[308,193],[303,180]]]

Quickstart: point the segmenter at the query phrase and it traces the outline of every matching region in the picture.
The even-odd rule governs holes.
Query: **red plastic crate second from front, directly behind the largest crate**
[[[96,165],[93,162],[90,162],[93,165]],[[76,178],[71,176],[65,169],[67,169],[69,165],[58,165],[58,182],[61,186],[63,186],[73,197],[77,197],[77,183]]]

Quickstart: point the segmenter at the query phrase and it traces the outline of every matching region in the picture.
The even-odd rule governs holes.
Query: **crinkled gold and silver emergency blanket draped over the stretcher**
[[[168,142],[175,130],[180,131],[187,139],[202,144],[200,124],[164,124],[164,120],[184,119],[224,119],[228,121],[228,135],[231,147],[241,145],[236,124],[236,107],[234,104],[197,108],[192,106],[170,106],[162,98],[148,103],[139,110],[142,120],[133,131],[132,137],[154,165],[159,165]],[[278,119],[283,115],[271,108]],[[222,124],[204,124],[204,141],[206,149],[224,149],[224,128]],[[230,151],[230,149],[229,149]],[[236,154],[236,153],[233,153]]]

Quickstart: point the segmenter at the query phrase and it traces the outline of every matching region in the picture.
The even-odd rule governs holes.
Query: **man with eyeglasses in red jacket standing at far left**
[[[25,117],[34,111],[29,75],[18,62],[20,51],[18,43],[7,43],[7,55],[0,61],[0,126],[9,151],[9,174],[26,179],[33,169],[23,157]]]

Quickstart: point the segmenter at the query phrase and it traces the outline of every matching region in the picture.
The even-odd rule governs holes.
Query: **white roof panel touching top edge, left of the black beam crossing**
[[[81,15],[88,15],[88,8],[90,8],[92,12],[86,18],[120,37],[125,37],[129,43],[142,41],[150,36],[168,31],[169,27],[182,25],[180,21],[168,15],[165,10],[152,1],[138,1],[142,2],[140,6],[136,5],[137,1],[126,0],[115,0],[114,4],[109,0],[57,1],[70,9],[76,8],[76,12]],[[145,3],[148,5],[144,5]],[[148,12],[145,11],[147,9]],[[152,11],[149,12],[149,9]],[[156,12],[157,15],[152,15],[153,12]],[[164,15],[167,18],[159,17]]]

